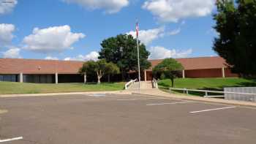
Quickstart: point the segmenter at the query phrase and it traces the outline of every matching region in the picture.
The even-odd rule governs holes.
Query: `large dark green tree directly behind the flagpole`
[[[121,69],[122,79],[129,70],[138,71],[137,41],[132,35],[119,34],[116,37],[105,39],[101,43],[102,49],[99,51],[99,59],[105,58],[108,62],[113,62]],[[150,53],[146,46],[139,42],[140,50],[140,70],[151,67],[148,61]]]

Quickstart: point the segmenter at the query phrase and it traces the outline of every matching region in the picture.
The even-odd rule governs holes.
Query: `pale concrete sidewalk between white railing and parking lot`
[[[173,99],[186,99],[186,100],[195,100],[195,101],[200,101],[200,102],[215,102],[215,103],[221,103],[221,104],[225,104],[225,105],[256,107],[255,102],[244,102],[244,101],[236,101],[236,100],[206,98],[206,97],[200,97],[200,96],[184,96],[181,94],[169,94],[167,92],[160,91],[157,88],[140,90],[140,91],[138,91],[138,90],[132,91],[132,94],[143,94],[146,96],[164,96],[164,97],[170,97]]]

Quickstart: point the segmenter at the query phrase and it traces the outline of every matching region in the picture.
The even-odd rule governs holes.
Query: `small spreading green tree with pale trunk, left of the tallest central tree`
[[[79,72],[84,75],[96,73],[98,84],[100,84],[100,79],[104,75],[111,75],[118,73],[117,66],[113,63],[108,63],[105,59],[99,61],[86,61],[83,67],[80,68]]]

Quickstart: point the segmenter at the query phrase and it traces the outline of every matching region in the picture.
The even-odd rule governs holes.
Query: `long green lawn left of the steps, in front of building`
[[[61,84],[37,84],[37,83],[12,83],[0,82],[0,94],[41,94],[57,92],[80,92],[80,91],[118,91],[124,89],[121,83],[61,83]]]

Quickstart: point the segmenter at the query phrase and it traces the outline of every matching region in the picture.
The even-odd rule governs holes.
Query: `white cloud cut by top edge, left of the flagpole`
[[[123,7],[127,7],[129,0],[62,0],[68,3],[80,4],[91,10],[105,9],[108,13],[116,13]]]

